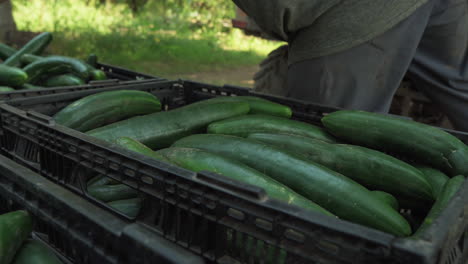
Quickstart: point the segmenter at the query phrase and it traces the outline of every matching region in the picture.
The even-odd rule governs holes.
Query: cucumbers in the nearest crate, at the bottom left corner
[[[39,241],[28,239],[32,219],[26,211],[0,215],[0,263],[60,264],[54,252]]]

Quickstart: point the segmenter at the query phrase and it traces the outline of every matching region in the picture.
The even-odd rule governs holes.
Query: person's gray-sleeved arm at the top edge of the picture
[[[341,0],[233,0],[266,33],[288,41]]]

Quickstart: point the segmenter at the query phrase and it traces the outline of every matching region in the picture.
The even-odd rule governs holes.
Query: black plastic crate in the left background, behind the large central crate
[[[165,80],[163,78],[159,78],[156,76],[151,76],[151,75],[144,74],[144,73],[138,73],[138,72],[124,69],[124,68],[108,65],[108,64],[99,63],[97,65],[97,68],[103,70],[109,79],[103,80],[103,81],[91,81],[88,84],[77,85],[77,86],[65,86],[65,87],[54,87],[54,88],[37,89],[37,90],[17,90],[17,91],[12,91],[12,92],[0,92],[0,101],[9,101],[12,99],[17,99],[17,98],[29,98],[29,97],[36,97],[36,96],[42,96],[42,95],[106,88],[106,87],[110,87],[110,86],[112,87],[116,85],[128,86],[128,85],[133,85],[133,84],[138,84],[138,83],[145,83],[148,81],[154,82],[156,80],[160,80],[160,81]]]

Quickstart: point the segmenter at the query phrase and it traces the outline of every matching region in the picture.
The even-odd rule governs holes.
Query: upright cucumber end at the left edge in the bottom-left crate
[[[32,231],[32,219],[26,211],[0,215],[0,263],[11,262]]]

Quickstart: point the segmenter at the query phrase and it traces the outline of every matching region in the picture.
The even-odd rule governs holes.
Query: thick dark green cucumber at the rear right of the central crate
[[[337,111],[322,118],[338,138],[390,151],[430,165],[449,176],[468,175],[468,147],[438,128],[364,111]]]

